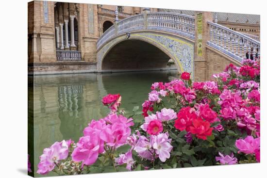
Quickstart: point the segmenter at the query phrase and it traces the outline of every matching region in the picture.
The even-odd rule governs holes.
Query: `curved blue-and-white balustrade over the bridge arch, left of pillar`
[[[97,49],[114,36],[136,30],[173,32],[195,39],[195,18],[178,13],[153,12],[122,19],[100,36]]]

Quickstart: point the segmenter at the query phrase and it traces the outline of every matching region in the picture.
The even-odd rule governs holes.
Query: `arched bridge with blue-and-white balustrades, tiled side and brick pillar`
[[[225,65],[240,65],[247,51],[249,57],[260,56],[260,42],[213,23],[210,12],[187,16],[145,11],[103,33],[97,41],[97,71],[167,69],[172,59],[180,73],[191,72],[202,81]]]

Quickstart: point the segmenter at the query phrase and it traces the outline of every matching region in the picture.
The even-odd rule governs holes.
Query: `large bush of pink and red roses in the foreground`
[[[189,76],[189,77],[188,77]],[[121,97],[102,102],[110,113],[92,120],[77,143],[44,149],[37,173],[59,175],[260,162],[260,60],[228,65],[212,81],[190,73],[155,82],[142,112],[127,118]],[[135,116],[142,114],[138,122]]]

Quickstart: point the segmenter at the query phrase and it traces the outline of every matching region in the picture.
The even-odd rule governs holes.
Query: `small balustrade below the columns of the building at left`
[[[81,60],[81,51],[74,50],[56,50],[56,58],[58,61],[67,61],[67,60]]]

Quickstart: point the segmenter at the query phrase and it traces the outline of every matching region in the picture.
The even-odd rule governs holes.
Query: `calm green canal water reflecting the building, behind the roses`
[[[176,70],[34,76],[34,175],[43,177],[36,170],[44,148],[63,139],[78,141],[92,119],[109,113],[101,103],[103,96],[119,93],[120,109],[130,115],[134,106],[141,111],[153,82],[167,82],[176,77]]]

